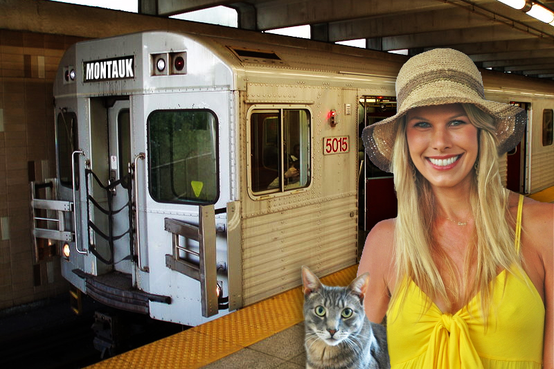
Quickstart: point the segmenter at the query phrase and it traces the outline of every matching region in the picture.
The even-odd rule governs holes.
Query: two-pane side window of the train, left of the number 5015
[[[250,116],[250,177],[254,194],[310,185],[310,112],[254,110]]]

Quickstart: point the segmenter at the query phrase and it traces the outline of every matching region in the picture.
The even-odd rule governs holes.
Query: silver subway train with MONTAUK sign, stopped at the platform
[[[364,126],[395,114],[403,55],[309,40],[149,31],[69,48],[54,82],[57,175],[32,183],[33,237],[76,291],[199,325],[357,262],[396,212]],[[286,44],[286,43],[285,43]],[[524,107],[508,188],[554,185],[552,82],[483,70]]]

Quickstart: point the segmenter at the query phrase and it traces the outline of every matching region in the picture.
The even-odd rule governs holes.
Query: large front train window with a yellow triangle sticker
[[[217,118],[208,110],[157,110],[148,116],[149,190],[156,201],[215,204]]]

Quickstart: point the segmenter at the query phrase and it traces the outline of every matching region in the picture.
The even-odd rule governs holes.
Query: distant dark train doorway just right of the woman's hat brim
[[[529,120],[530,115],[530,103],[529,102],[515,102],[510,101],[510,104],[517,105],[523,109],[526,109]],[[506,168],[506,188],[514,192],[526,193],[526,158],[527,158],[527,129],[530,127],[530,121],[526,125],[521,142],[517,144],[514,150],[511,150],[507,154],[507,168]]]

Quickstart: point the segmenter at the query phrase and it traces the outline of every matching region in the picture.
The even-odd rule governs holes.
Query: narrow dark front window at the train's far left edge
[[[77,145],[77,116],[71,111],[62,111],[57,114],[57,168],[60,171],[60,183],[65,187],[72,187],[71,181],[71,154]],[[78,164],[75,163],[75,171],[78,172]],[[78,188],[78,183],[75,183]]]

